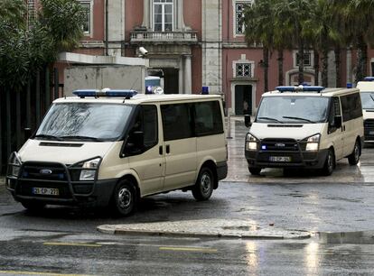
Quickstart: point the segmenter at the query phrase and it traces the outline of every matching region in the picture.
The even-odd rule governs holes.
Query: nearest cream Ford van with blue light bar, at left
[[[127,216],[139,198],[174,189],[210,198],[227,175],[220,96],[78,90],[53,102],[13,152],[6,187],[23,207],[112,207]]]

